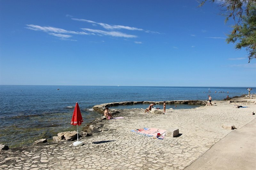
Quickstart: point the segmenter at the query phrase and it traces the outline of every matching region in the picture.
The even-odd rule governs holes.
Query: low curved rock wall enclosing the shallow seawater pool
[[[105,107],[113,107],[118,105],[136,105],[136,104],[150,104],[150,103],[156,103],[156,104],[163,104],[163,101],[123,101],[123,102],[113,102],[113,103],[103,103],[100,105],[93,106],[93,110],[97,112],[104,112]],[[172,101],[165,101],[166,104],[198,104],[198,105],[206,105],[207,101],[204,100],[172,100]]]

